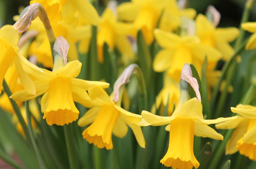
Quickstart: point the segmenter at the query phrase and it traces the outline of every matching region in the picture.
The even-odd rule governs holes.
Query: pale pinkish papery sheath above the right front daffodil
[[[201,95],[199,92],[199,85],[197,82],[197,79],[192,76],[192,70],[189,66],[189,64],[185,63],[183,69],[181,70],[180,79],[188,82],[190,86],[194,89],[196,92],[196,96],[198,100],[201,102]]]

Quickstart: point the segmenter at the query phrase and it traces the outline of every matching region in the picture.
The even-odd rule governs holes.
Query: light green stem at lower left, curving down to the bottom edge
[[[28,121],[29,135],[30,135],[30,139],[32,142],[34,152],[36,154],[37,161],[38,161],[41,169],[47,169],[46,165],[44,164],[43,158],[39,152],[39,149],[37,147],[36,140],[34,137],[34,133],[33,133],[32,125],[31,125],[31,115],[30,115],[31,113],[29,111],[29,101],[25,101],[25,108],[26,108],[26,116],[27,116],[27,121]]]

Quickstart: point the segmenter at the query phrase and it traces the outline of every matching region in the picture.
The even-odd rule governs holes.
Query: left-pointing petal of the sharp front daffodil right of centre
[[[167,125],[167,124],[170,124],[171,120],[174,119],[174,117],[172,117],[172,116],[167,116],[167,117],[158,116],[158,115],[152,114],[146,110],[143,110],[141,115],[152,126]]]

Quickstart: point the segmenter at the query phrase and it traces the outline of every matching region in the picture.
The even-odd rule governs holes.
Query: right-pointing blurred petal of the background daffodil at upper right
[[[225,41],[232,42],[238,37],[239,29],[236,27],[217,28],[215,35]]]

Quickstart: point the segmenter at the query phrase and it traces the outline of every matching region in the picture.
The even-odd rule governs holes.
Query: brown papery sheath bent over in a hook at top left
[[[20,14],[20,18],[14,24],[14,26],[17,28],[19,33],[23,33],[29,28],[32,20],[36,19],[38,16],[44,25],[49,41],[54,42],[55,36],[52,30],[52,26],[48,19],[47,13],[40,3],[33,3],[26,7]]]

